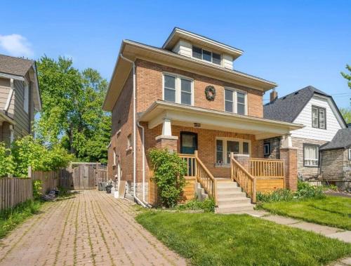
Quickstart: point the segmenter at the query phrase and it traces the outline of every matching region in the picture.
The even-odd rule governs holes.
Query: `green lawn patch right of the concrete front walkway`
[[[262,208],[307,222],[351,230],[351,198],[327,196],[325,199],[271,202],[263,203]]]

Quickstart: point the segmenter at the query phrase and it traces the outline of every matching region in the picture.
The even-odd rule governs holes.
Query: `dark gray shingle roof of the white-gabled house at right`
[[[293,123],[314,93],[330,97],[313,86],[307,86],[282,98],[278,98],[274,102],[267,103],[263,106],[263,115],[267,119]]]

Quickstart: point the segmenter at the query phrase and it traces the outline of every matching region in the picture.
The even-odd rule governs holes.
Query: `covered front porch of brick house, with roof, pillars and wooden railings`
[[[147,122],[148,146],[178,152],[187,161],[188,184],[199,182],[217,202],[219,182],[236,182],[252,202],[256,192],[296,187],[290,132],[301,125],[163,101],[155,102],[140,121]],[[263,139],[281,135],[282,160],[263,159]],[[191,186],[185,189],[186,199],[194,195]]]

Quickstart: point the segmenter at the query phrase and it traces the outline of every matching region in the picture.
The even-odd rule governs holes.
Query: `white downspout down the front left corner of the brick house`
[[[138,201],[138,204],[140,204],[143,207],[147,207],[147,204],[145,200],[140,200],[135,193],[136,189],[136,96],[135,96],[135,62],[125,58],[121,53],[119,54],[122,59],[131,62],[133,65],[133,197],[135,201]],[[144,128],[143,128],[143,151],[144,151]],[[145,199],[145,162],[144,162],[144,152],[143,152],[143,199]]]

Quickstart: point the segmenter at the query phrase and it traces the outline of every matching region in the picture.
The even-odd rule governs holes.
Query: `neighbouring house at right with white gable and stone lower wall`
[[[321,161],[324,161],[324,164],[327,161],[324,160],[324,154],[327,152],[321,153],[322,147],[333,142],[336,134],[339,131],[346,132],[343,130],[347,128],[331,95],[312,86],[282,98],[277,98],[277,92],[272,91],[270,102],[263,109],[267,119],[305,126],[291,133],[293,147],[298,149],[298,175],[303,179],[322,178]],[[282,137],[265,139],[263,145],[265,158],[279,159]]]

